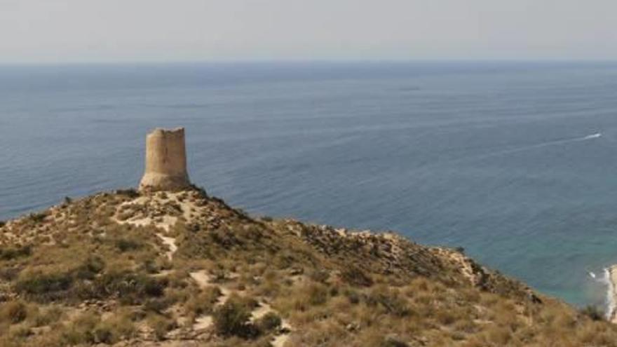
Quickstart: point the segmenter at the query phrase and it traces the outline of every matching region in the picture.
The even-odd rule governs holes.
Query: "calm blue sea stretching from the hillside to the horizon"
[[[617,263],[617,64],[0,67],[0,219],[135,186],[187,128],[191,179],[255,214],[465,247],[574,304]]]

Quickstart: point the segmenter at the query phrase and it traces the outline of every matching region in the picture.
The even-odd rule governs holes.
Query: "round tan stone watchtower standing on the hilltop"
[[[184,128],[156,128],[146,137],[146,170],[140,191],[188,188],[187,149]]]

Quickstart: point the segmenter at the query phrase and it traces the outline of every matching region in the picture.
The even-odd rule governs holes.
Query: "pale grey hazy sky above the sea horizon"
[[[616,0],[0,0],[0,62],[617,60]]]

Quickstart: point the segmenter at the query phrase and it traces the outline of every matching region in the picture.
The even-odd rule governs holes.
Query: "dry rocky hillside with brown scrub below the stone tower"
[[[0,222],[0,346],[617,346],[602,315],[395,233],[252,217],[201,189]]]

